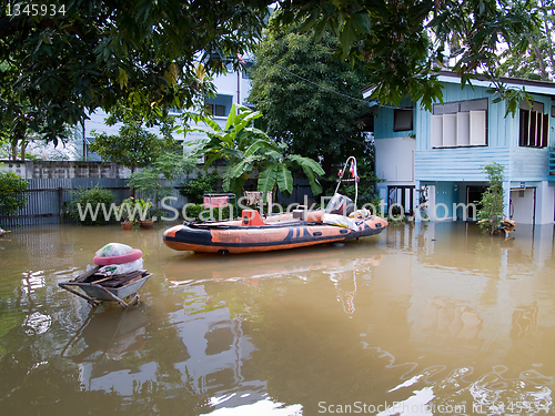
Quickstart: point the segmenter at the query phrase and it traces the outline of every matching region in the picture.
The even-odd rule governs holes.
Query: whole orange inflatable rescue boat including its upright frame
[[[352,179],[343,179],[351,162]],[[342,242],[380,234],[387,221],[367,210],[355,211],[355,202],[337,193],[342,182],[354,181],[356,161],[350,158],[340,171],[335,195],[325,210],[297,207],[292,212],[261,216],[256,210],[242,210],[241,219],[216,222],[185,222],[164,231],[170,248],[195,253],[250,253]],[[355,193],[357,194],[357,192]]]

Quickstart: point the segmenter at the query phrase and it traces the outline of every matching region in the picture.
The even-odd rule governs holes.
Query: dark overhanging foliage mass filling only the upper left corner
[[[205,93],[199,74],[222,72],[221,57],[239,62],[268,13],[266,2],[238,0],[62,1],[42,17],[24,4],[0,2],[0,63],[52,141],[99,106],[192,106]]]

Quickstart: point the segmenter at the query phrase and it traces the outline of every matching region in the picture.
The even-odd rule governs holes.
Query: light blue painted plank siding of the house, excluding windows
[[[421,103],[414,104],[414,130],[412,132],[393,132],[394,110],[392,108],[380,108],[379,115],[375,119],[374,138],[376,143],[376,173],[386,182],[379,185],[381,195],[386,193],[387,185],[396,185],[401,177],[398,164],[408,162],[408,151],[414,150],[414,175],[413,183],[416,189],[427,185],[431,190],[430,204],[445,204],[447,213],[443,207],[438,212],[427,212],[431,219],[436,216],[461,216],[454,213],[453,203],[466,202],[466,190],[471,184],[486,185],[487,176],[483,172],[483,166],[493,162],[503,165],[505,192],[505,214],[509,213],[509,197],[518,195],[511,192],[514,187],[525,186],[535,189],[534,207],[529,207],[529,197],[527,204],[516,203],[513,209],[517,209],[515,215],[523,223],[544,224],[554,221],[555,209],[555,176],[549,176],[549,148],[527,148],[519,146],[519,123],[521,112],[507,114],[507,103],[505,101],[494,102],[496,95],[488,92],[487,84],[475,84],[474,88],[465,87],[461,89],[458,80],[454,78],[444,82],[443,102],[456,102],[466,100],[487,99],[487,121],[486,138],[487,145],[482,146],[454,146],[454,148],[432,148],[432,112],[423,109]],[[553,91],[553,95],[551,93]],[[535,91],[532,98],[536,102],[544,104],[544,114],[552,113],[552,97],[555,97],[555,88],[552,85],[542,87],[541,91]],[[401,106],[411,106],[403,102]],[[463,114],[463,113],[461,113]],[[555,145],[555,118],[551,115],[548,120],[548,146]],[[463,115],[457,115],[456,120],[466,120]],[[458,121],[461,122],[461,121]],[[445,125],[442,125],[445,131]],[[453,129],[448,124],[447,128]],[[463,140],[458,143],[467,143],[464,136],[464,125],[461,126]],[[450,130],[446,130],[447,133]],[[452,130],[451,130],[452,131]],[[411,134],[412,133],[412,134]],[[405,143],[402,138],[415,135],[416,140],[413,148]],[[472,134],[472,133],[471,133]],[[447,134],[444,139],[453,143],[452,135]],[[468,142],[473,142],[470,136]],[[444,143],[446,143],[444,142]],[[477,136],[474,136],[477,142]],[[454,142],[455,144],[456,142]],[[397,166],[395,166],[397,165]],[[403,169],[403,171],[405,171]],[[403,175],[406,176],[406,175]],[[528,193],[533,191],[526,191]],[[529,195],[527,195],[529,196]],[[522,205],[522,206],[521,206]],[[533,211],[532,213],[529,211]]]

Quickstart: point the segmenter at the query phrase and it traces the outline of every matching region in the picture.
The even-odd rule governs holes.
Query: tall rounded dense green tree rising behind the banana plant
[[[270,136],[292,153],[322,160],[325,171],[349,155],[370,152],[362,119],[370,113],[362,90],[369,72],[335,54],[337,38],[300,33],[301,24],[280,27],[272,18],[255,51],[249,101],[263,114]]]

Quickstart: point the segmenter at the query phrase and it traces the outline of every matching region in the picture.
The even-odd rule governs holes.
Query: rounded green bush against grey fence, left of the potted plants
[[[80,189],[75,191],[77,199],[70,204],[70,214],[83,225],[104,225],[110,223],[111,217],[105,213],[112,213],[112,191],[98,186],[93,189]]]

